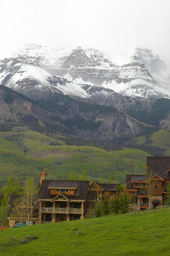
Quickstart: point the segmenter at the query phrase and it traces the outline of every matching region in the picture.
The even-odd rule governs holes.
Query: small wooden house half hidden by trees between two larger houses
[[[104,193],[111,197],[118,191],[117,188],[120,184],[113,183],[99,183],[98,181],[93,181],[90,184],[91,191],[95,191],[97,195],[97,201],[101,201]]]

